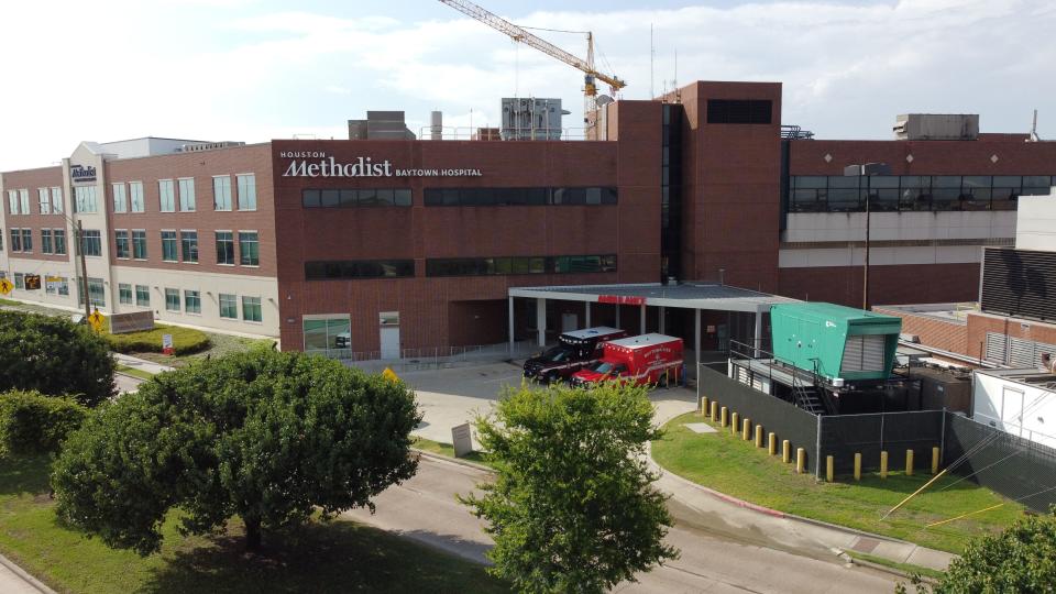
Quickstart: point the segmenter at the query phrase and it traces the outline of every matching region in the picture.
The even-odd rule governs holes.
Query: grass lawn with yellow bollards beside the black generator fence
[[[741,441],[729,430],[694,433],[683,425],[706,421],[690,413],[664,427],[667,435],[652,443],[652,457],[664,469],[722,493],[772,509],[860,530],[909,540],[933,549],[960,553],[976,536],[997,532],[1020,517],[1022,506],[970,481],[953,484],[944,476],[887,520],[880,517],[932,479],[926,472],[905,476],[891,472],[887,480],[864,473],[860,482],[837,476],[835,483],[816,482],[813,474],[795,474],[793,464],[770,457],[752,441]],[[926,524],[953,518],[1007,502],[997,509],[926,529]]]

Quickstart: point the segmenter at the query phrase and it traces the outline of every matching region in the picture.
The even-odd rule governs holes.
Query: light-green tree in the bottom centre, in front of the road
[[[593,593],[678,556],[644,459],[661,435],[645,388],[522,385],[475,425],[497,477],[460,499],[490,524],[493,574],[524,592]]]

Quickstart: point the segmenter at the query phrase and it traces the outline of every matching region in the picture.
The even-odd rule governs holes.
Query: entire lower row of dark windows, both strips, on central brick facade
[[[616,272],[616,256],[510,256],[427,258],[426,276],[576,274]],[[307,280],[415,276],[414,260],[331,260],[305,263]]]

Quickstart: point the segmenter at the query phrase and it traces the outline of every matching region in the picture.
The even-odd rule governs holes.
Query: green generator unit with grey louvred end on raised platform
[[[780,304],[770,308],[770,328],[778,361],[839,386],[891,376],[902,319],[833,304]]]

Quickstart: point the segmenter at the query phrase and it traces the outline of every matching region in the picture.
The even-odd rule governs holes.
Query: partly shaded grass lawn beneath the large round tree
[[[56,520],[46,458],[0,460],[0,550],[58,592],[508,592],[484,566],[351,521],[265,534],[246,556],[241,526],[182,537],[165,522],[162,552],[108,548]],[[174,514],[175,516],[175,514]]]

